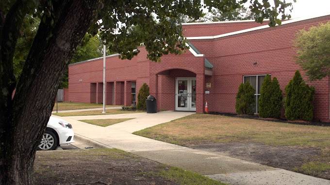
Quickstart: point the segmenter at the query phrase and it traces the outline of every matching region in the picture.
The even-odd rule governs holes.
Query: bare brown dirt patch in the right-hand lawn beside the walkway
[[[319,160],[321,150],[318,148],[300,148],[289,146],[269,146],[262,143],[214,143],[188,145],[190,148],[216,152],[227,156],[264,164],[285,170],[294,170],[304,163]],[[330,179],[330,173],[314,174]]]

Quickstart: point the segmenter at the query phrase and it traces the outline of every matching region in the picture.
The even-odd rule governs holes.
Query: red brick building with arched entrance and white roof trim
[[[277,77],[281,89],[300,67],[293,40],[297,31],[330,21],[330,15],[288,20],[269,28],[254,21],[183,24],[190,49],[150,62],[147,51],[131,61],[106,57],[106,104],[131,105],[143,83],[157,99],[158,110],[235,113],[240,83],[249,81],[256,99],[264,75]],[[102,57],[69,65],[69,100],[101,103]],[[307,81],[307,77],[304,77]],[[308,82],[315,87],[314,119],[330,121],[330,79]],[[255,112],[258,111],[256,105]]]

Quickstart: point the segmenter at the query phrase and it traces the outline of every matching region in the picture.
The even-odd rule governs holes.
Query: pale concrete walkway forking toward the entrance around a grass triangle
[[[229,156],[186,148],[154,139],[133,135],[132,132],[166,123],[191,112],[164,111],[156,114],[134,113],[117,115],[61,117],[73,125],[75,134],[105,146],[132,152],[170,166],[196,171],[215,180],[233,185],[330,185],[330,181],[288,170],[277,169]],[[83,123],[83,119],[135,119],[107,127]],[[201,123],[202,124],[202,123]]]

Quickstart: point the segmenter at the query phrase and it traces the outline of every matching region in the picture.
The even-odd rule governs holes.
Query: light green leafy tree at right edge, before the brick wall
[[[330,22],[297,34],[297,63],[310,80],[330,77]]]

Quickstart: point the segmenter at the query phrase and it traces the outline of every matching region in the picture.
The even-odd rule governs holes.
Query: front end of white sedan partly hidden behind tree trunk
[[[62,144],[74,142],[73,136],[74,133],[70,123],[50,116],[45,134],[42,136],[38,149],[55,150]]]

